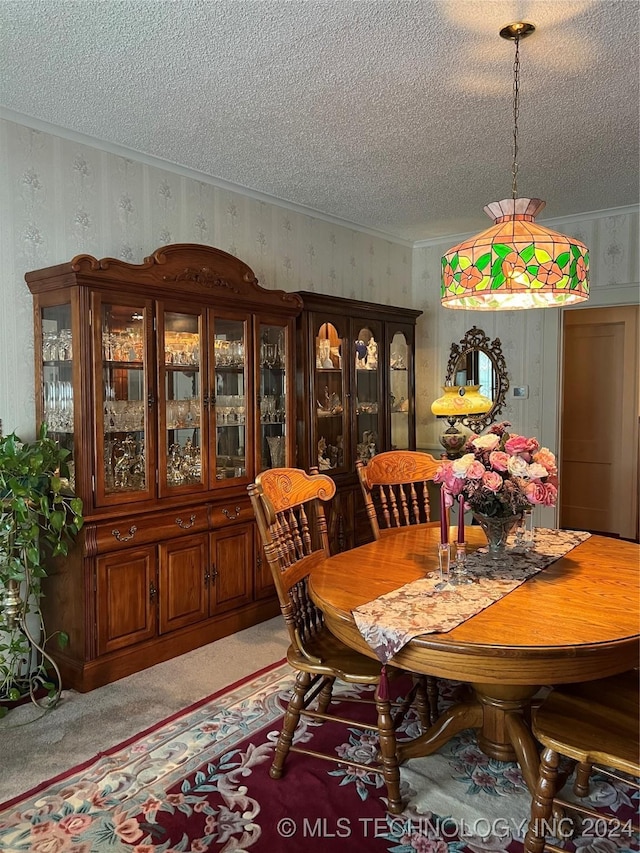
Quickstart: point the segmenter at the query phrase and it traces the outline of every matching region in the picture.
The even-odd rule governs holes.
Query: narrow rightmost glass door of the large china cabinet
[[[287,460],[287,328],[258,325],[259,468],[283,468]]]

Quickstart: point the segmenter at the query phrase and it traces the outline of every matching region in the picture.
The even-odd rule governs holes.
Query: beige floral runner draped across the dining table
[[[438,592],[438,572],[381,595],[353,611],[358,630],[382,663],[420,634],[450,631],[507,595],[541,569],[564,557],[590,537],[575,530],[536,529],[535,547],[525,553],[509,549],[492,558],[486,548],[467,554],[465,568],[473,583]]]

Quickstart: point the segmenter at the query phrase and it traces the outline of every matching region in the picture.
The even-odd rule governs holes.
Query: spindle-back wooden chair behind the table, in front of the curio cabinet
[[[429,482],[440,461],[416,450],[389,450],[378,453],[365,465],[358,460],[356,470],[374,539],[388,536],[410,524],[436,525],[431,521]],[[438,717],[438,681],[427,676],[426,689],[430,722]]]

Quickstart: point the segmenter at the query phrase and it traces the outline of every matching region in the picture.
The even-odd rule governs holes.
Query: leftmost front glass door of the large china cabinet
[[[115,304],[94,294],[96,502],[142,500],[154,492],[151,475],[154,396],[148,387],[151,303]],[[97,323],[96,323],[97,319]],[[94,338],[95,341],[95,338]],[[153,372],[151,372],[153,375]]]

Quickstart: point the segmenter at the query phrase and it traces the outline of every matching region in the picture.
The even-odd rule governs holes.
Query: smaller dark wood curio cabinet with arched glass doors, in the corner
[[[371,539],[357,459],[415,450],[415,327],[422,311],[299,292],[296,404],[298,465],[336,481],[331,547]]]

